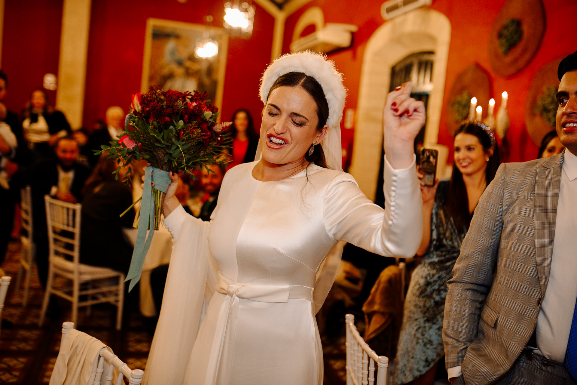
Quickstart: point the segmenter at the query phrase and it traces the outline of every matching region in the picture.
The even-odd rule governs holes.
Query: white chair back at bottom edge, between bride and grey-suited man
[[[347,385],[386,385],[389,359],[377,356],[377,353],[362,339],[355,326],[354,315],[347,314],[345,323]]]

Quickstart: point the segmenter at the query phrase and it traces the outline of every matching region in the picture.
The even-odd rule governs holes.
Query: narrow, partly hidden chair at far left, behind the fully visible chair
[[[22,305],[28,304],[28,293],[30,291],[30,279],[36,257],[36,244],[33,241],[33,220],[32,220],[32,192],[30,186],[20,189],[20,226],[25,234],[20,236],[21,256],[20,268],[16,277],[16,288],[20,290],[22,275],[24,275],[24,295],[22,296]]]

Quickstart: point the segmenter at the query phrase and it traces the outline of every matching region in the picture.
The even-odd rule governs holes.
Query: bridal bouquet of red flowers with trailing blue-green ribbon
[[[151,163],[145,170],[140,209],[140,219],[145,220],[139,220],[133,259],[126,276],[127,280],[136,278],[130,284],[131,289],[140,278],[152,234],[159,229],[164,194],[171,182],[169,172],[192,174],[191,169],[197,167],[227,163],[226,157],[221,155],[232,140],[223,130],[231,122],[216,122],[218,108],[206,98],[206,92],[163,91],[152,85],[145,94],[139,92],[132,96],[124,131],[117,140],[111,141],[110,146],[102,146],[102,151],[107,150],[110,158],[116,159],[120,165],[115,173],[121,166],[128,166],[130,175],[130,165],[141,159]],[[154,188],[151,182],[154,182]]]

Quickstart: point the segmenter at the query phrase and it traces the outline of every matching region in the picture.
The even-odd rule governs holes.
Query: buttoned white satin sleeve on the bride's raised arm
[[[415,163],[394,170],[385,158],[385,210],[370,201],[346,173],[327,187],[324,223],[327,233],[383,256],[412,257],[422,239],[421,190]]]

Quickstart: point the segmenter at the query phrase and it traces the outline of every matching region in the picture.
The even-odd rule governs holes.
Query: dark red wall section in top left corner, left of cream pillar
[[[6,0],[2,69],[8,76],[6,106],[20,113],[44,74],[58,74],[62,0]],[[48,91],[51,104],[55,92]]]

